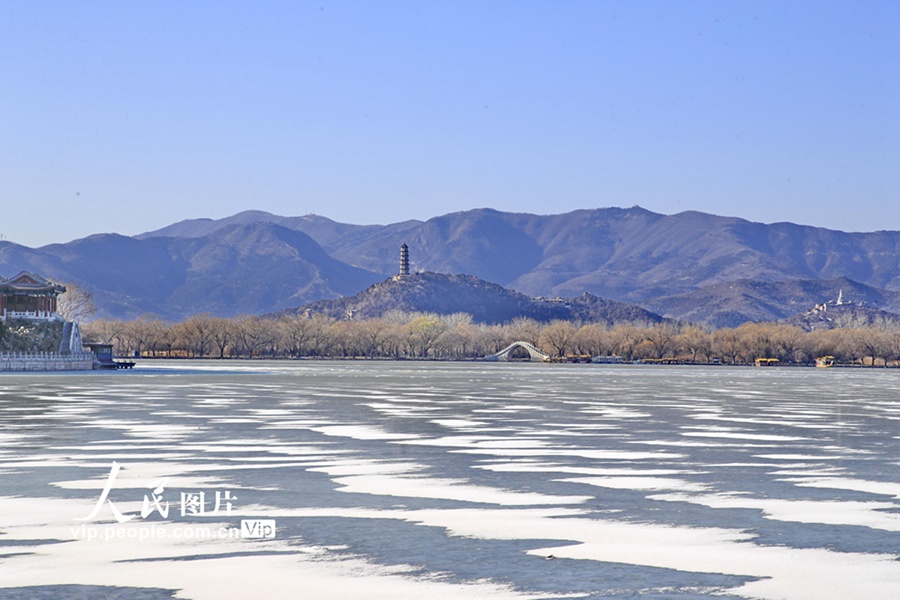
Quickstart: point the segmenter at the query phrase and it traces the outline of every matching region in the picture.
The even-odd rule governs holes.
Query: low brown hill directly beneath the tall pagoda
[[[637,306],[605,300],[591,294],[571,299],[540,300],[472,275],[416,273],[388,279],[347,298],[321,300],[290,311],[322,313],[337,319],[371,319],[385,313],[428,312],[441,315],[468,313],[479,323],[507,323],[524,317],[546,322],[580,319],[612,324],[620,321],[661,321]]]

